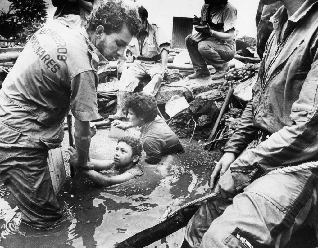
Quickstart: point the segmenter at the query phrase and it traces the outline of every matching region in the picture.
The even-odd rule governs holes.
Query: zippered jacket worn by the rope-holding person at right
[[[317,19],[317,0],[307,0],[289,18],[282,6],[270,19],[274,31],[268,39],[252,100],[224,147],[224,151],[242,152],[231,167],[257,164],[265,170],[318,155]],[[272,135],[260,144],[251,143],[251,149],[243,152],[259,129]]]

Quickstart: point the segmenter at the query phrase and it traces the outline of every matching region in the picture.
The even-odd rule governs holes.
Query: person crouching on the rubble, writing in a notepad
[[[229,70],[227,62],[236,53],[235,7],[227,0],[204,0],[204,3],[201,18],[195,16],[192,23],[196,26],[207,25],[207,28],[185,38],[195,71],[188,76],[189,79],[210,76],[207,65],[213,65],[216,70],[212,79],[224,77]]]

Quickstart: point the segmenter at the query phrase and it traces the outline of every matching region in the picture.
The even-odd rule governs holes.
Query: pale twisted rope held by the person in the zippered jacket
[[[313,161],[313,162],[307,162],[307,163],[303,163],[303,164],[299,164],[299,165],[294,165],[294,166],[288,166],[288,167],[283,167],[283,168],[279,168],[273,171],[268,172],[267,174],[274,174],[274,173],[293,173],[293,172],[297,172],[297,171],[305,171],[308,169],[315,169],[318,168],[318,161]],[[196,200],[193,200],[187,204],[182,205],[181,207],[179,207],[178,209],[176,209],[175,211],[171,212],[171,208],[168,207],[167,211],[164,212],[164,214],[162,215],[161,218],[159,218],[159,221],[162,222],[164,220],[166,220],[167,218],[170,218],[171,216],[175,215],[176,213],[180,212],[181,210],[183,210],[184,208],[190,207],[192,205],[195,205],[199,202],[217,197],[218,195],[216,193],[211,193],[210,195],[198,198]]]

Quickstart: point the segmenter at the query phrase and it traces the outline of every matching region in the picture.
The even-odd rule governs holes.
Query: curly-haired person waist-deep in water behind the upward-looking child
[[[157,104],[154,97],[134,93],[128,97],[125,105],[129,122],[114,120],[112,125],[127,129],[139,127],[142,134],[142,146],[146,152],[148,164],[160,162],[161,155],[183,152],[183,147],[176,134],[166,122],[157,115]]]

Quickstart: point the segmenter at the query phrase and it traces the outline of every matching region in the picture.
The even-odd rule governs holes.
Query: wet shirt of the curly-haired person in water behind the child
[[[140,129],[142,147],[146,152],[145,161],[149,164],[158,163],[163,154],[183,152],[183,147],[176,134],[159,116],[147,126]]]

